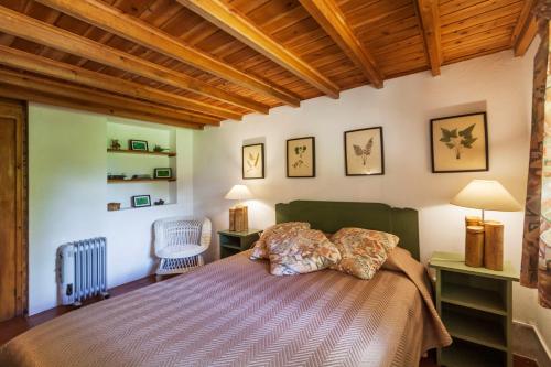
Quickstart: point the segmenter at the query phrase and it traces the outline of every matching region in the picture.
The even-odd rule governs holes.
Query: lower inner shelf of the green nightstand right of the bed
[[[507,352],[504,330],[498,322],[446,309],[442,313],[442,321],[453,337]]]

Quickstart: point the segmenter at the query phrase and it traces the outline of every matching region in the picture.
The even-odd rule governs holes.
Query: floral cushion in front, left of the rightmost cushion
[[[267,240],[273,276],[303,274],[322,270],[341,260],[338,249],[321,230],[280,233]]]

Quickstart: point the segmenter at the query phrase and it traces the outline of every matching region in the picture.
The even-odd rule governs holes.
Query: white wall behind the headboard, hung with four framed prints
[[[338,100],[321,97],[301,108],[280,107],[269,116],[247,116],[241,123],[195,132],[194,207],[214,220],[216,229],[228,225],[231,203],[224,194],[241,180],[241,145],[266,143],[266,179],[247,180],[257,199],[249,204],[250,226],[274,223],[274,204],[292,199],[381,202],[419,211],[421,257],[433,251],[463,251],[464,216],[476,211],[449,205],[473,179],[499,180],[522,203],[528,170],[532,61],[534,47],[522,58],[511,52],[467,61],[442,68],[442,76],[420,73],[387,80],[383,89],[360,87]],[[487,111],[489,172],[431,173],[429,120]],[[382,176],[346,177],[343,132],[383,127],[386,173]],[[316,177],[285,177],[285,140],[314,136]],[[506,258],[520,268],[522,213],[488,213],[506,225]],[[213,249],[210,257],[217,253]],[[527,302],[529,298],[530,301]],[[536,322],[532,290],[515,290],[515,317]],[[549,328],[548,328],[549,330]],[[548,338],[548,343],[551,339]]]

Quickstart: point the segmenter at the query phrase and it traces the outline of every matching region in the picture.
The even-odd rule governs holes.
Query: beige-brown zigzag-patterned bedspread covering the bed
[[[417,366],[451,338],[423,267],[395,260],[408,276],[366,281],[273,277],[241,253],[36,326],[0,366]]]

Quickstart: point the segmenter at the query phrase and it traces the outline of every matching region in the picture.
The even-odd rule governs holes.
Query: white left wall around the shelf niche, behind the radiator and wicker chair
[[[55,253],[60,245],[106,236],[108,284],[114,287],[154,270],[151,225],[155,219],[192,214],[193,134],[183,129],[174,130],[177,204],[107,212],[106,133],[112,121],[138,123],[57,107],[29,106],[30,314],[57,304]]]

